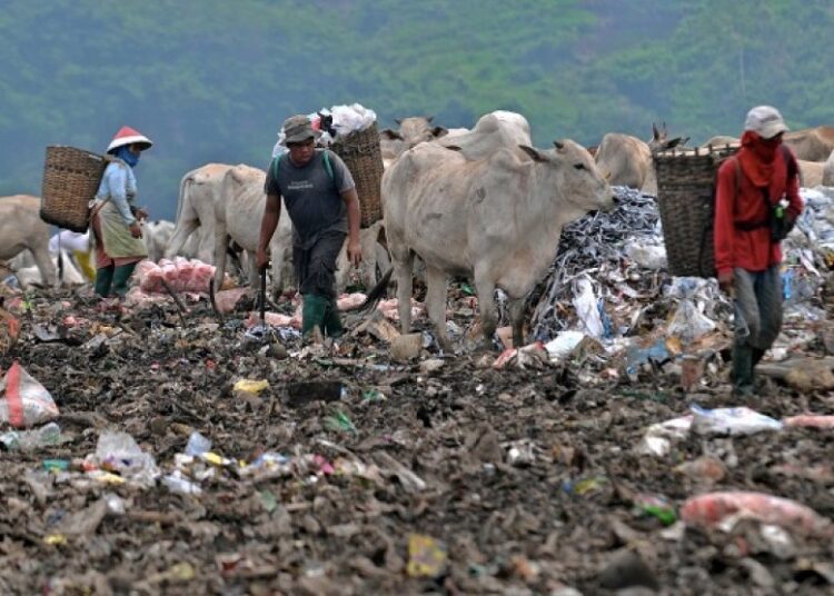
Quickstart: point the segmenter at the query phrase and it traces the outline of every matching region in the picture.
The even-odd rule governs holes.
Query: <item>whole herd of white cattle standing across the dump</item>
[[[409,325],[414,257],[425,266],[427,310],[439,341],[446,342],[445,295],[449,275],[469,276],[480,297],[483,328],[495,327],[493,294],[502,288],[510,299],[514,339],[520,341],[524,298],[550,266],[562,228],[590,210],[613,205],[612,186],[628,186],[655,195],[652,156],[682,148],[688,139],[669,138],[666,126],[653,126],[648,142],[608,133],[597,147],[568,139],[554,148],[536,149],[527,120],[495,111],[471,130],[446,129],[431,118],[398,120],[398,129],[380,132],[385,173],[384,219],[361,232],[367,287],[378,271],[394,265],[400,319]],[[788,132],[784,141],[798,158],[803,186],[834,186],[834,128]],[[704,146],[736,143],[714,137]],[[266,173],[246,165],[208,163],[180,181],[176,224],[146,222],[145,238],[152,260],[181,255],[217,266],[217,281],[227,257],[249,269],[255,284],[255,250],[265,208]],[[361,199],[361,197],[360,197]],[[0,259],[20,271],[33,260],[44,284],[56,279],[54,256],[47,248],[50,230],[39,216],[39,199],[0,199]],[[292,285],[292,229],[282,208],[272,238],[272,291]],[[30,251],[29,257],[18,256]],[[342,251],[344,252],[344,251]],[[16,257],[17,256],[17,257]],[[76,278],[69,260],[64,282]],[[347,258],[339,262],[340,289],[348,279]],[[78,280],[82,280],[80,274]]]

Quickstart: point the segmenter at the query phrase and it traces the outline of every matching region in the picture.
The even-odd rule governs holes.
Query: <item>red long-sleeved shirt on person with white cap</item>
[[[790,149],[788,149],[790,150]],[[764,271],[772,265],[782,262],[778,242],[771,241],[767,226],[742,230],[737,224],[756,224],[767,219],[767,209],[762,190],[753,185],[741,171],[738,196],[736,196],[736,158],[729,158],[718,168],[715,192],[715,269],[718,274],[741,267],[748,271]],[[796,218],[802,212],[798,176],[787,179],[787,165],[782,151],[776,151],[774,171],[770,186],[771,202],[776,205],[787,197],[787,212]]]

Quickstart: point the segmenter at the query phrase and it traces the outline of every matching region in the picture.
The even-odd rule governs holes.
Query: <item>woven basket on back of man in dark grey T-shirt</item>
[[[356,181],[361,227],[373,226],[383,218],[383,151],[379,148],[376,123],[335,141],[331,149],[341,158]]]

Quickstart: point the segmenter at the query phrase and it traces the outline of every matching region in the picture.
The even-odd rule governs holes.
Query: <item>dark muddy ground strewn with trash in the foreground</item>
[[[648,425],[685,415],[689,403],[742,405],[724,364],[689,395],[659,367],[644,367],[635,383],[622,361],[593,355],[502,370],[460,355],[426,372],[420,360],[390,362],[369,336],[337,354],[299,354],[295,339],[288,358],[262,354],[245,337],[246,312],[218,321],[205,302],[183,319],[172,305],[102,311],[85,291],[37,292],[29,304],[0,366],[19,360],[52,394],[62,433],[59,445],[0,453],[3,594],[833,589],[830,538],[795,535],[780,546],[756,524],[729,534],[665,526],[634,505],[637,494],[677,509],[698,493],[744,489],[834,516],[831,430],[692,437],[666,457],[635,451]],[[78,325],[54,327],[68,315]],[[471,317],[458,309],[455,321],[466,328]],[[89,342],[99,334],[110,339]],[[810,349],[823,354],[820,344]],[[236,391],[240,379],[269,388]],[[304,380],[340,381],[345,391],[310,400],[309,388],[290,387]],[[761,389],[746,405],[775,418],[834,414],[831,394],[800,396],[770,380]],[[186,468],[214,469],[195,480],[198,495],[161,478],[145,488],[118,484],[118,474],[90,480],[80,460],[108,430],[131,435],[161,476],[193,430],[230,461]],[[240,471],[238,461],[254,469],[264,453],[288,459]],[[725,466],[723,478],[678,471],[705,454]],[[69,468],[44,469],[53,459]],[[416,565],[413,535],[436,540],[434,564]]]

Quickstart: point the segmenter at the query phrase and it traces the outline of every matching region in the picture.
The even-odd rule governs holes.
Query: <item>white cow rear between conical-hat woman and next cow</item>
[[[203,262],[215,262],[215,208],[222,200],[220,193],[224,177],[231,168],[226,163],[207,163],[191,170],[179,183],[177,225],[165,258],[179,255],[195,231],[198,231],[198,246],[193,256]]]

